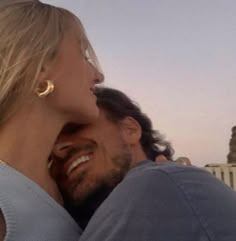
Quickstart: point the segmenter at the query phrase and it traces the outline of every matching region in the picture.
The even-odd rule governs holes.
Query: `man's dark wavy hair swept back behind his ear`
[[[137,103],[123,92],[108,87],[96,88],[95,95],[97,105],[112,122],[117,123],[130,116],[140,124],[142,128],[140,143],[149,159],[155,160],[158,155],[164,155],[168,160],[172,160],[174,154],[172,145],[159,131],[153,129],[151,120],[141,111]]]

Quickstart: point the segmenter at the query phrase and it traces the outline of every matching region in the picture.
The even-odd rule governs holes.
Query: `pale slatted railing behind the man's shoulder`
[[[236,191],[236,164],[208,164],[204,169]]]

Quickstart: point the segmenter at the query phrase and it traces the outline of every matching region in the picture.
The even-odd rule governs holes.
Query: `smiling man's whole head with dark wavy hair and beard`
[[[82,228],[132,166],[147,158],[172,160],[174,152],[125,94],[98,88],[96,95],[97,122],[65,126],[52,156],[65,206]]]

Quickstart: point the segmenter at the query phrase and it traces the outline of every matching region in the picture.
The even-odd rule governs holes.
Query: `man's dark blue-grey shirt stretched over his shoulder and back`
[[[231,241],[235,203],[236,193],[201,168],[143,161],[100,206],[82,240],[225,240],[227,234]]]

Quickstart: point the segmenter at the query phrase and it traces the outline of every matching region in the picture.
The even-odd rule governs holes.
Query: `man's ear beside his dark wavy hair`
[[[127,144],[135,145],[140,143],[142,128],[133,117],[127,116],[121,121],[122,134]]]

